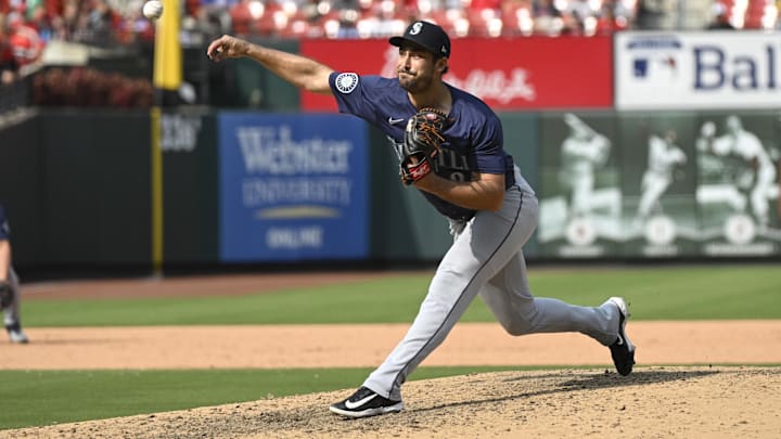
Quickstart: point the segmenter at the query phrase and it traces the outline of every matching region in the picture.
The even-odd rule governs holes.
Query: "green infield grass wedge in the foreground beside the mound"
[[[421,367],[410,379],[505,370],[518,367]],[[349,392],[363,382],[369,372],[369,369],[0,371],[0,429],[318,391],[349,389]]]

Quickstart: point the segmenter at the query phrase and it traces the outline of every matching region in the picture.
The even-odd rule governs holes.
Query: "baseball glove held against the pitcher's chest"
[[[443,131],[448,124],[447,115],[436,108],[422,108],[407,120],[405,141],[401,145],[401,181],[412,184],[432,170],[431,159],[445,141]]]

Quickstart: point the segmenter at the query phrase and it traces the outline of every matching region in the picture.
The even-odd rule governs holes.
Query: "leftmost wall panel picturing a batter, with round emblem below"
[[[619,253],[620,145],[612,115],[551,113],[540,119],[542,255],[599,258]]]

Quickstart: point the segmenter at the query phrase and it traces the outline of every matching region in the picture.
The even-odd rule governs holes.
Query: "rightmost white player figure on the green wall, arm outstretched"
[[[703,124],[696,146],[699,151],[708,152],[717,156],[734,155],[743,159],[752,170],[753,185],[750,201],[754,218],[760,229],[767,228],[769,222],[769,202],[779,196],[776,185],[776,167],[770,155],[753,132],[743,128],[740,117],[730,115],[725,120],[726,133],[716,135],[716,125],[713,121]],[[738,184],[739,182],[735,182]]]

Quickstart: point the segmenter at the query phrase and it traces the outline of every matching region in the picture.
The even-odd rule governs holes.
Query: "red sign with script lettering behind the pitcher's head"
[[[396,76],[398,48],[386,39],[307,39],[300,51],[340,72]],[[495,111],[611,108],[612,62],[610,37],[459,38],[444,80]],[[330,95],[303,93],[302,108],[336,111],[336,104]]]

